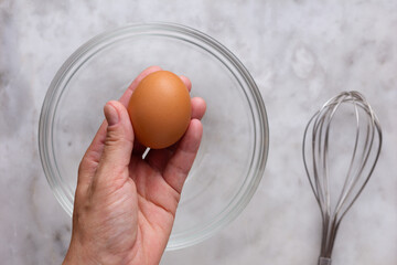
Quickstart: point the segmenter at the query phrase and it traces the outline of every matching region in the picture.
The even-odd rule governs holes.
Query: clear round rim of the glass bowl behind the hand
[[[195,231],[187,231],[185,234],[173,236],[169,241],[167,250],[179,250],[200,243],[230,223],[245,209],[253,198],[262,178],[269,149],[269,126],[265,104],[260,92],[243,63],[223,44],[213,38],[194,30],[192,28],[165,22],[132,23],[117,28],[97,36],[94,36],[81,47],[78,47],[61,66],[50,84],[45,95],[40,121],[39,121],[39,151],[42,167],[47,182],[63,209],[72,215],[73,205],[65,195],[65,183],[56,168],[53,149],[53,120],[55,118],[57,103],[62,92],[67,86],[67,82],[73,77],[73,73],[78,71],[86,60],[95,55],[103,47],[116,43],[124,38],[131,35],[162,35],[190,42],[210,52],[217,57],[238,80],[244,93],[249,102],[250,112],[254,120],[255,148],[251,159],[251,167],[247,173],[243,186],[228,203],[228,205],[217,214],[217,216],[203,227]]]

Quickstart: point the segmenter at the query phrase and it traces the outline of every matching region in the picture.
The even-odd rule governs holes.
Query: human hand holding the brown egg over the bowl
[[[143,71],[119,102],[104,108],[78,169],[71,245],[64,264],[159,264],[181,190],[202,138],[205,102],[192,98],[192,120],[174,146],[150,150],[135,141],[126,106]],[[181,76],[187,89],[191,82]]]

